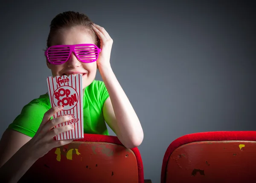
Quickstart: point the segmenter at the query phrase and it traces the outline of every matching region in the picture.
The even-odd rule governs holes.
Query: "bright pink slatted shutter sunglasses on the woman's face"
[[[67,62],[72,52],[80,62],[95,62],[100,51],[101,49],[93,44],[54,45],[50,46],[44,54],[49,63],[59,65]]]

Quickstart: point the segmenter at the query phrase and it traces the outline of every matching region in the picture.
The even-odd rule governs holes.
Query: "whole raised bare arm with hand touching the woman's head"
[[[110,97],[103,106],[105,121],[125,147],[139,146],[143,141],[140,121],[110,65],[113,39],[101,26],[96,24],[92,26],[100,39],[102,49],[97,59],[97,66]]]

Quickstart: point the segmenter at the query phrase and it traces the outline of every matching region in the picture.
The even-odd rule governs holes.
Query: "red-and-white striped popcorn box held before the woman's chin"
[[[83,83],[82,75],[76,74],[70,76],[47,77],[48,94],[51,106],[62,105],[63,109],[53,118],[62,115],[71,115],[73,118],[62,124],[55,126],[74,124],[74,129],[56,135],[56,140],[84,138],[84,120],[83,120]]]

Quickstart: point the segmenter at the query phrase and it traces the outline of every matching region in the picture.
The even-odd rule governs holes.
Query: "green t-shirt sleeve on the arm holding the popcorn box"
[[[23,107],[21,113],[15,118],[12,124],[9,125],[8,129],[16,130],[33,137],[42,122],[44,113],[46,112],[46,107],[35,100],[31,101]]]

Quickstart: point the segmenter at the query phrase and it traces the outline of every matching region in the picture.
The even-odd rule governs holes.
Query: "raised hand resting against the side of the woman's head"
[[[93,30],[95,31],[95,33],[100,39],[101,52],[99,53],[99,57],[97,60],[98,68],[109,67],[113,39],[109,36],[105,28],[99,25],[96,25],[94,23],[92,25],[93,25]]]

